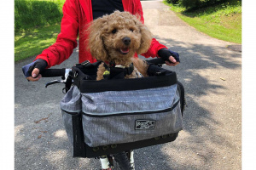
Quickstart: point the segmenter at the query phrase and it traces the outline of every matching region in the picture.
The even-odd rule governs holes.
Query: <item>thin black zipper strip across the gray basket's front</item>
[[[91,115],[91,114],[83,112],[83,115],[90,116],[90,117],[110,117],[110,116],[147,115],[147,114],[154,114],[154,113],[164,113],[164,112],[172,111],[177,106],[178,103],[179,103],[179,99],[177,100],[177,102],[174,105],[172,105],[171,108],[160,110],[160,111],[143,111],[143,112],[131,112],[131,113],[117,113],[117,114],[109,114],[109,115]]]

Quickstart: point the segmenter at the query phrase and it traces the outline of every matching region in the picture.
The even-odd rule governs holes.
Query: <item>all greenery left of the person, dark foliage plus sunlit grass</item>
[[[56,41],[64,3],[65,0],[15,0],[15,61],[41,54]]]

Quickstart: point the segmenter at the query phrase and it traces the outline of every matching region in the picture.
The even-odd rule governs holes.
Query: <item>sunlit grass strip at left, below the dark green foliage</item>
[[[45,48],[56,41],[60,31],[60,24],[55,24],[54,26],[15,32],[15,61],[41,54]]]

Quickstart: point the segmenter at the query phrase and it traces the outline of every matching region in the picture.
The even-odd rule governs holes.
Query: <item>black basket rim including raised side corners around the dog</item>
[[[149,77],[96,81],[96,71],[100,64],[101,61],[96,64],[73,66],[73,84],[79,88],[81,93],[160,88],[177,83],[176,72],[156,65],[149,65]]]

